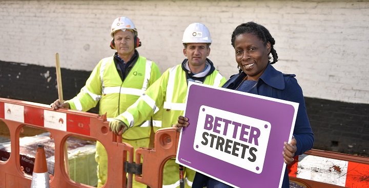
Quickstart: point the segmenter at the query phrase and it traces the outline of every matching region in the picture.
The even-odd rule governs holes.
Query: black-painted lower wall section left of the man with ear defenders
[[[60,69],[63,99],[75,97],[91,72]],[[51,104],[58,99],[55,67],[0,61],[0,97]],[[89,110],[98,113],[98,106]]]

